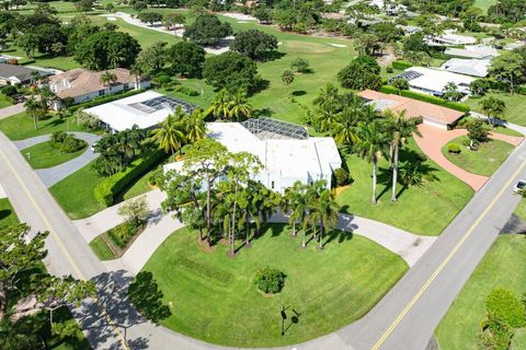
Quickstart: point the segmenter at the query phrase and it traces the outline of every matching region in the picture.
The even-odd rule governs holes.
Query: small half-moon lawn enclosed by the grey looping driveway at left
[[[82,141],[84,147],[77,152],[65,153],[54,149],[49,141],[37,143],[20,151],[33,168],[45,168],[66,163],[84,153],[88,143]],[[30,156],[27,158],[27,153]]]

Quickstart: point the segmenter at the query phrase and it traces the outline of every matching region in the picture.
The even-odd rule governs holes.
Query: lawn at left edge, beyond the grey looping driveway
[[[35,130],[33,118],[25,112],[0,120],[0,130],[11,140],[24,140],[35,136],[48,135],[54,131],[87,131],[78,125],[73,117],[59,119],[55,114],[41,118]]]

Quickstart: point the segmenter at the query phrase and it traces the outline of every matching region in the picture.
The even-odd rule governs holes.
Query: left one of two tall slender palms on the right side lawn
[[[378,159],[385,153],[387,139],[381,122],[374,120],[369,124],[361,121],[356,128],[358,141],[355,150],[362,159],[373,163],[373,197],[370,202],[376,205],[376,180],[378,172]]]

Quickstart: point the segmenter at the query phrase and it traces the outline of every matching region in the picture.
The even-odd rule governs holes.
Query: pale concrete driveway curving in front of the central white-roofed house
[[[162,242],[175,230],[184,226],[170,214],[162,215],[160,203],[164,200],[164,194],[159,189],[142,196],[146,196],[149,208],[152,211],[148,220],[148,226],[123,257],[104,262],[111,269],[125,269],[136,275],[142,269]],[[123,222],[123,218],[117,213],[121,206],[123,203],[110,207],[88,219],[76,220],[73,224],[80,231],[85,242],[89,243],[101,233]],[[286,215],[275,214],[271,222],[286,223],[288,219]],[[436,237],[414,235],[375,220],[347,214],[340,214],[338,229],[353,232],[376,242],[402,257],[410,267],[419,260],[436,240]]]

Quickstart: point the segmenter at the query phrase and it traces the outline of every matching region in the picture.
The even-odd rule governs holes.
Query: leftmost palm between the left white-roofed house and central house
[[[171,152],[175,159],[175,151],[181,149],[181,143],[186,141],[184,124],[181,122],[183,112],[178,106],[174,114],[168,116],[159,128],[151,130],[151,140],[157,141],[164,152]]]

